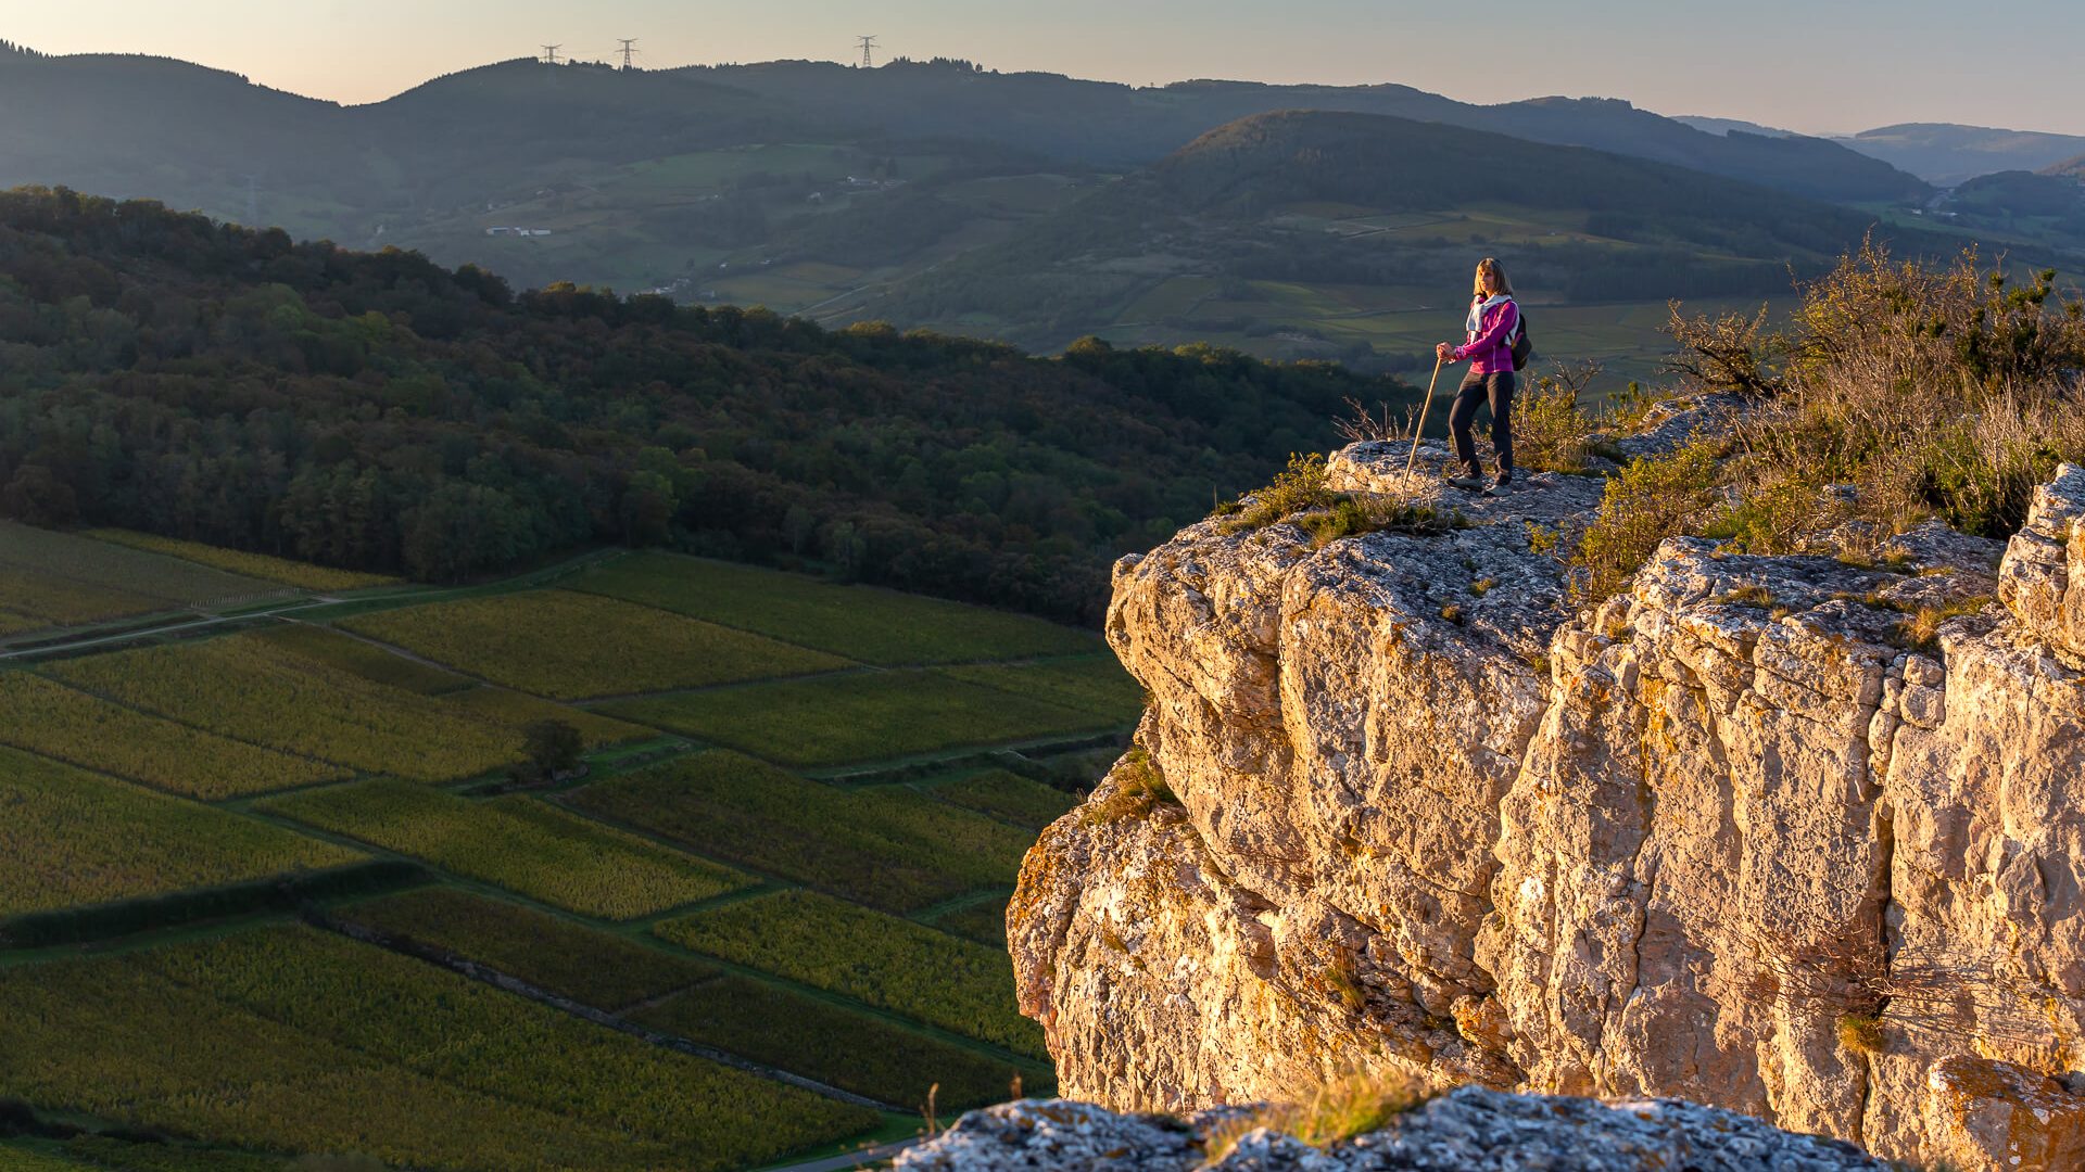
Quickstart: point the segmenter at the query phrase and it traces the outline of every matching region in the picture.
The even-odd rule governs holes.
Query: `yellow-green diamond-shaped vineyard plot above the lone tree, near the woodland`
[[[434,603],[344,626],[459,672],[567,701],[847,665],[771,638],[565,590]]]

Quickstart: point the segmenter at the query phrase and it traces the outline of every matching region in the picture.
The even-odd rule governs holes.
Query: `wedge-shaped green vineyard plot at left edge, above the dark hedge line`
[[[0,915],[352,863],[354,851],[0,749]]]

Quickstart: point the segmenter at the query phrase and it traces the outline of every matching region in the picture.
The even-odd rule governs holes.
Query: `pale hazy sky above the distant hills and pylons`
[[[1401,81],[1474,102],[1628,98],[1810,133],[1960,121],[2085,133],[2079,0],[13,0],[0,38],[44,52],[154,52],[369,102],[530,56],[651,67],[965,56],[992,69],[1155,83]],[[2041,56],[2037,58],[2037,48]],[[2035,96],[2039,94],[2039,98]]]

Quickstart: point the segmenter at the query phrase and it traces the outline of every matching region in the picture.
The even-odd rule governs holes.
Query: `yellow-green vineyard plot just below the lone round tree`
[[[749,882],[521,795],[471,801],[373,780],[267,799],[261,809],[609,920],[696,903]]]

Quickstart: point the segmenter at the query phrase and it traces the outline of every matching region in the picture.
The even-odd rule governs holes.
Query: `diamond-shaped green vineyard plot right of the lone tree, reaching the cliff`
[[[1095,715],[934,669],[780,680],[617,701],[600,711],[784,765],[853,765],[972,744],[1126,728],[1134,707]]]

